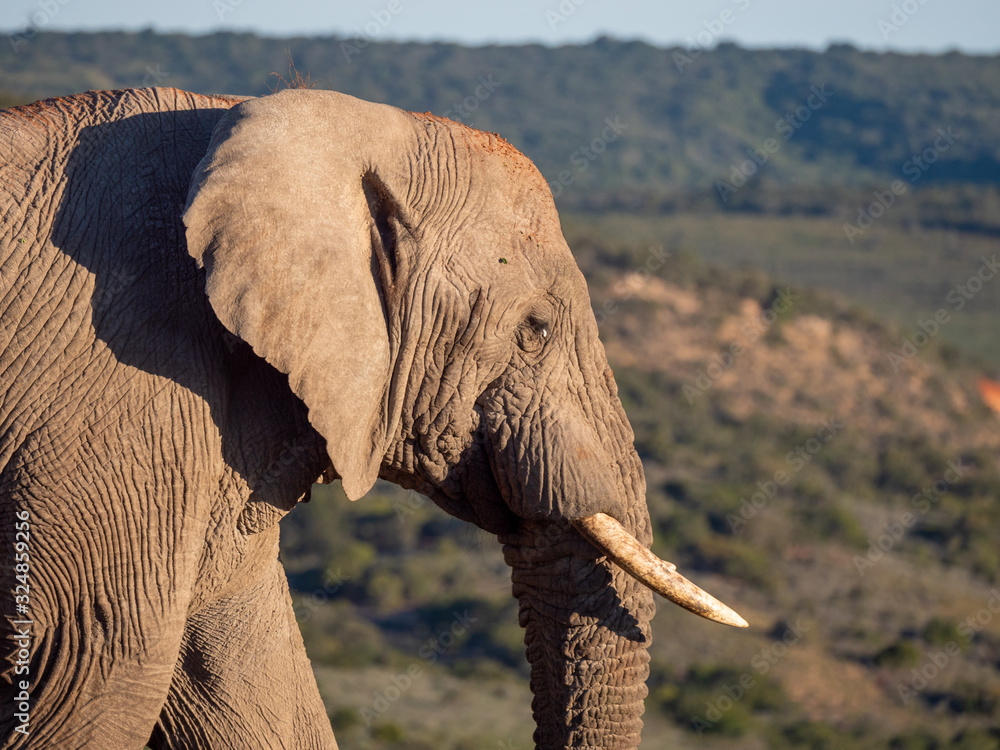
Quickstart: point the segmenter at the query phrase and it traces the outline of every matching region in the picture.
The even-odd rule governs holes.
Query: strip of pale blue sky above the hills
[[[997,0],[3,0],[0,28],[142,29],[266,36],[363,35],[465,44],[581,43],[600,34],[660,45],[1000,52]]]

